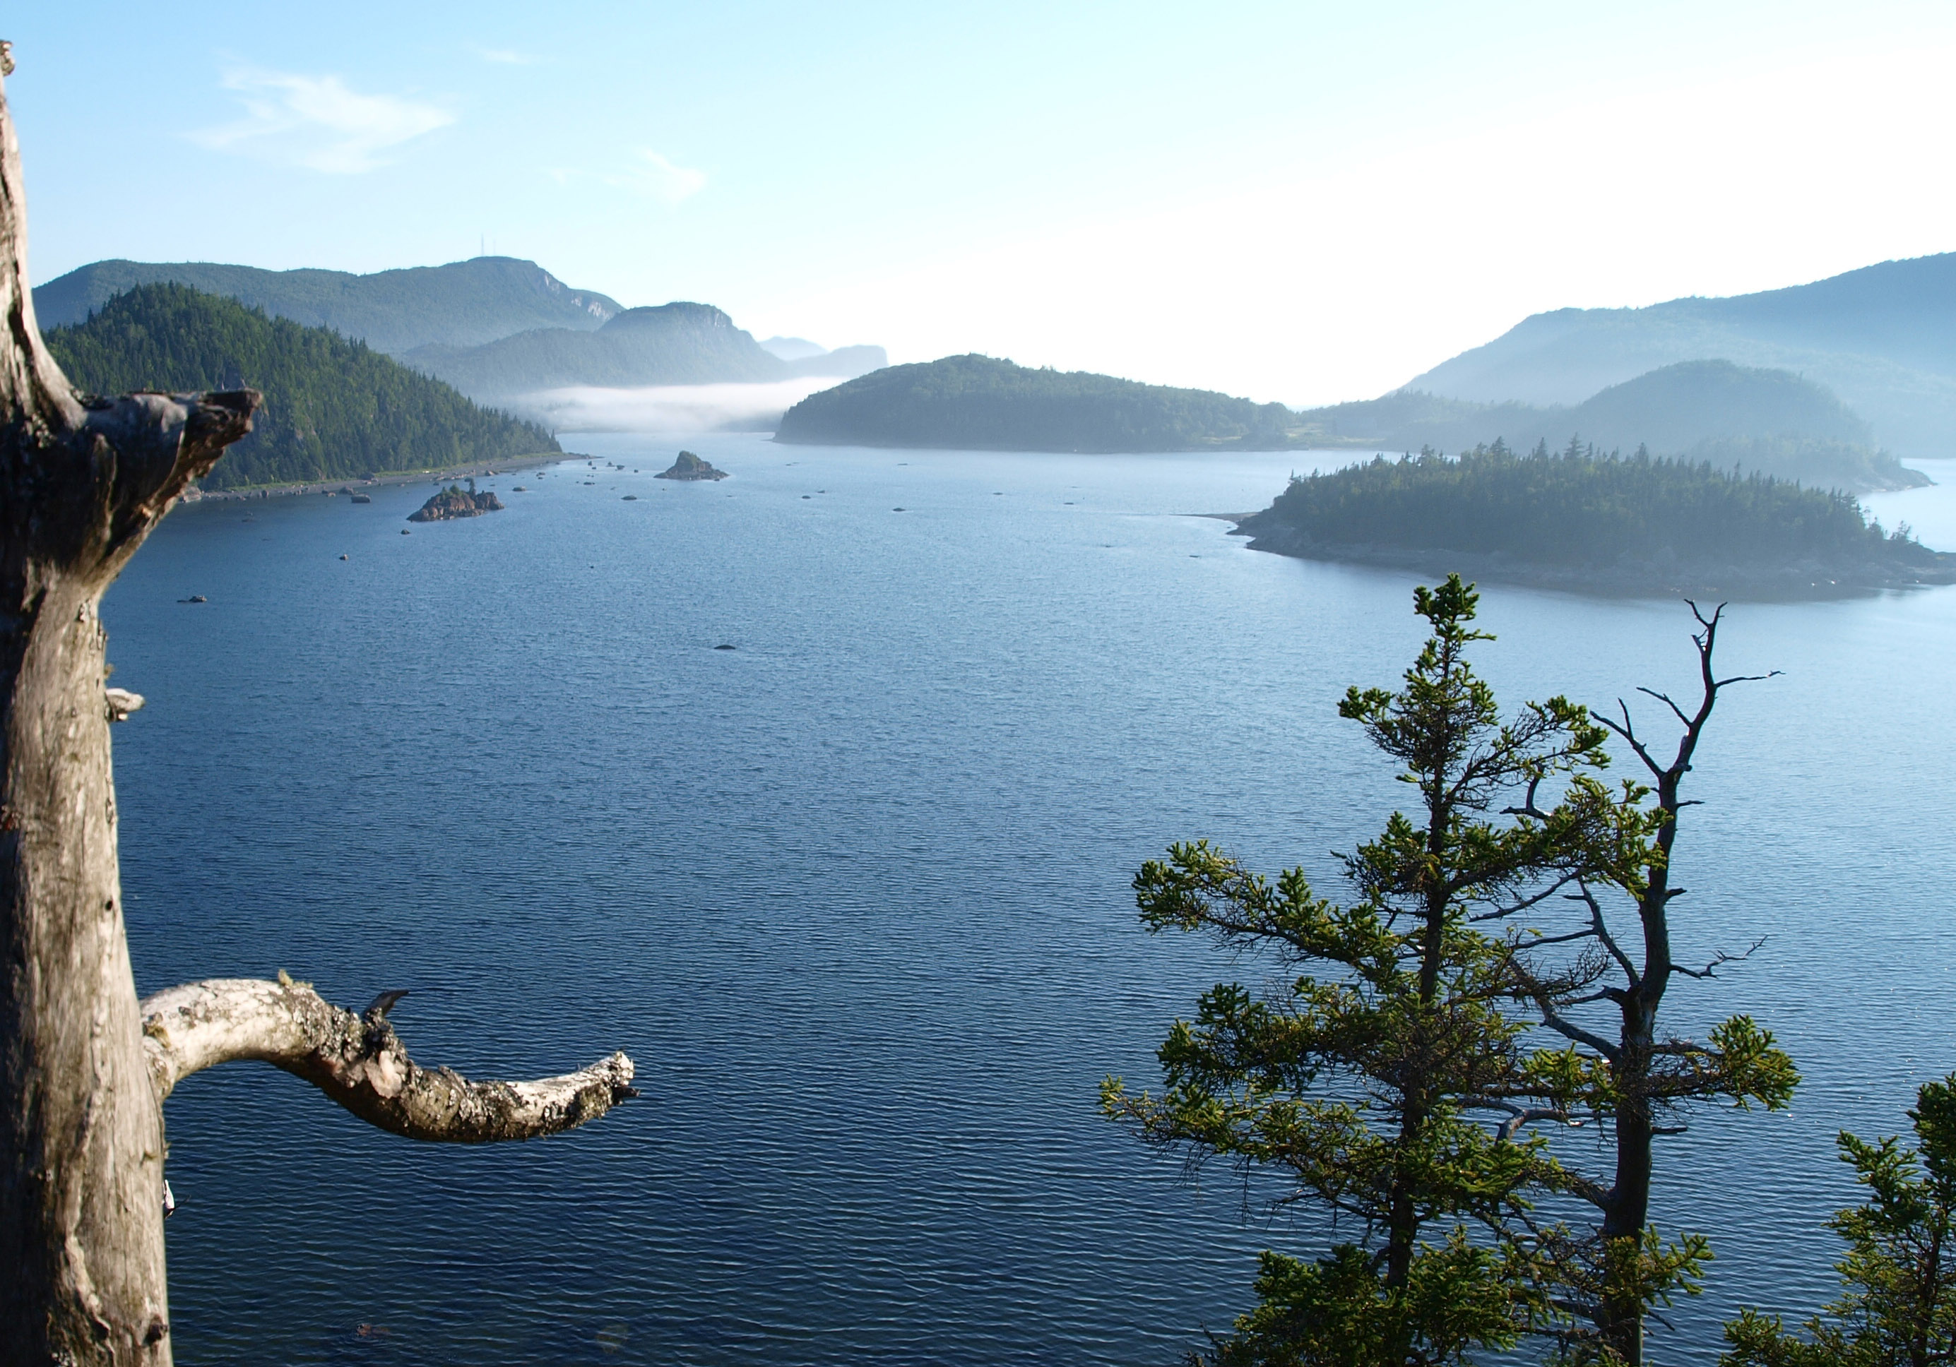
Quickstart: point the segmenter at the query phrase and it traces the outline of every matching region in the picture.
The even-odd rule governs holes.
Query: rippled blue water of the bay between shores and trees
[[[1262,970],[1142,935],[1127,884],[1193,835],[1332,882],[1400,800],[1334,700],[1410,659],[1412,581],[1183,516],[1297,456],[702,438],[735,477],[671,485],[671,444],[579,444],[642,473],[501,477],[509,512],[413,536],[426,489],[182,508],[110,595],[151,700],[115,733],[143,992],[407,988],[426,1064],[626,1048],[645,1091],[460,1150],[268,1068],[192,1078],[180,1361],[1170,1363],[1226,1328],[1309,1232],[1185,1183],[1095,1085]],[[1956,546],[1934,473],[1876,503]],[[1483,602],[1510,702],[1690,683],[1678,604]],[[1678,939],[1770,939],[1676,1025],[1755,1011],[1807,1081],[1663,1154],[1665,1222],[1719,1250],[1672,1361],[1827,1291],[1835,1130],[1956,1068],[1956,591],[1741,606],[1725,647],[1786,673],[1721,706]]]

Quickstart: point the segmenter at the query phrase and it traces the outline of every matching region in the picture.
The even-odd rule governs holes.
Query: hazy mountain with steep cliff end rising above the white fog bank
[[[516,401],[571,385],[626,389],[859,375],[886,362],[880,346],[782,360],[708,303],[626,309],[595,332],[536,329],[483,346],[417,346],[401,360],[481,401]]]

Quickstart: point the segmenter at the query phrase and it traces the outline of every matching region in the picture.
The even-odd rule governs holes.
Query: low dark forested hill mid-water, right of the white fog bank
[[[947,356],[814,393],[780,419],[777,440],[1005,452],[1281,450],[1305,444],[1293,428],[1297,415],[1281,403]]]

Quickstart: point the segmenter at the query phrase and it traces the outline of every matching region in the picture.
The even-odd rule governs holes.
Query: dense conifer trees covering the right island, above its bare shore
[[[1848,493],[1710,463],[1596,452],[1571,438],[1522,456],[1496,440],[1457,458],[1385,456],[1293,477],[1246,530],[1283,526],[1322,546],[1500,553],[1559,565],[1620,561],[1786,565],[1938,561],[1870,522]]]

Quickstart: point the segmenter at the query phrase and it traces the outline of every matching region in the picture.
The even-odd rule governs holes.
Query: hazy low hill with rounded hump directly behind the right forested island
[[[1786,370],[1751,370],[1727,360],[1665,366],[1610,385],[1571,407],[1473,403],[1400,389],[1383,399],[1311,409],[1305,422],[1326,446],[1467,450],[1502,438],[1561,448],[1580,434],[1602,450],[1649,448],[1721,469],[1852,489],[1911,489],[1929,483],[1872,446],[1868,422],[1825,387]]]

